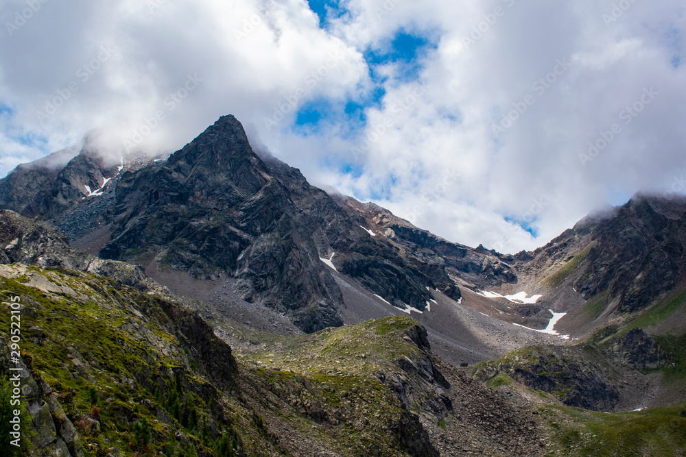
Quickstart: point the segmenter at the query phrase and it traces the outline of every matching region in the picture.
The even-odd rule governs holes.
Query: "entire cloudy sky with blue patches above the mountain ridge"
[[[329,3],[3,2],[0,173],[94,128],[171,152],[231,113],[311,182],[506,252],[685,190],[683,2]]]

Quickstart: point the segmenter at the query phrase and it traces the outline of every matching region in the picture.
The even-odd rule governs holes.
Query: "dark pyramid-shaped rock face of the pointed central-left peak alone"
[[[302,233],[298,208],[233,116],[166,162],[125,173],[113,212],[101,257],[237,277],[241,297],[289,314],[307,332],[342,324],[340,290]]]

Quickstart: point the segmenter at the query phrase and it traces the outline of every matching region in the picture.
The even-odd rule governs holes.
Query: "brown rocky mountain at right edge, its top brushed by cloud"
[[[585,319],[566,318],[563,330],[581,336],[686,286],[685,214],[686,197],[639,193],[506,260],[522,286],[543,294],[541,303],[560,311],[593,308]]]

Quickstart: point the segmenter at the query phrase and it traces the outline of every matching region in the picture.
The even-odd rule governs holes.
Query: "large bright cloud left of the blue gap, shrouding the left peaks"
[[[38,5],[3,31],[0,101],[44,153],[90,129],[112,153],[174,150],[222,114],[264,125],[284,103],[342,97],[365,74],[359,52],[320,29],[303,1]],[[3,23],[26,6],[3,2]]]

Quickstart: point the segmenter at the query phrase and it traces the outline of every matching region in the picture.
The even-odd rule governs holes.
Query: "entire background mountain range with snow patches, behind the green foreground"
[[[22,187],[15,177],[0,180],[0,203],[56,223],[90,254],[140,264],[178,293],[201,299],[211,294],[215,306],[232,303],[248,314],[263,306],[276,316],[265,325],[287,319],[312,332],[411,313],[429,330],[455,336],[456,344],[440,344],[457,347],[460,362],[493,354],[490,344],[501,347],[510,337],[496,333],[487,350],[472,356],[472,349],[464,349],[469,332],[447,324],[457,310],[542,329],[550,309],[580,306],[608,284],[622,303],[619,310],[637,310],[674,288],[681,275],[674,236],[648,236],[656,223],[680,233],[686,206],[678,197],[639,195],[622,208],[589,215],[534,252],[504,256],[451,243],[375,203],[311,186],[259,138],[253,141],[259,153],[235,116],[222,116],[167,160],[114,168],[98,162],[97,142],[88,142],[62,169],[38,176],[33,187]],[[22,169],[32,166],[12,175],[21,176]],[[646,227],[637,231],[641,224]],[[632,267],[617,267],[620,258]],[[654,266],[656,259],[663,264]],[[563,289],[565,275],[576,267],[574,287]],[[648,276],[629,278],[631,269]],[[635,286],[626,285],[629,279]],[[536,295],[542,298],[514,306],[507,298]],[[458,306],[440,321],[432,319],[437,297]],[[573,324],[567,333],[578,329]]]

